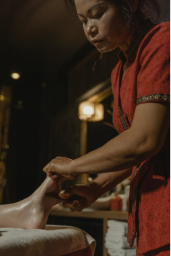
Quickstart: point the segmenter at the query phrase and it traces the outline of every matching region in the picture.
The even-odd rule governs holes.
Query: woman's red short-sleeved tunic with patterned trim
[[[121,61],[112,72],[114,126],[129,129],[138,104],[170,102],[170,23],[146,22],[128,50],[130,66],[123,80]],[[121,82],[122,81],[122,82]],[[128,241],[138,236],[143,255],[170,244],[170,139],[158,155],[132,170]]]

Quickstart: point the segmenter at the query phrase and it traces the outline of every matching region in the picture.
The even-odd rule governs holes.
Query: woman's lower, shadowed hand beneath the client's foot
[[[94,190],[94,191],[93,191]],[[71,203],[63,202],[65,208],[69,208],[71,212],[81,212],[94,203],[98,197],[95,195],[95,187],[93,185],[75,185],[65,190],[65,193],[60,193],[60,198],[68,199],[72,195],[79,195],[81,198]]]

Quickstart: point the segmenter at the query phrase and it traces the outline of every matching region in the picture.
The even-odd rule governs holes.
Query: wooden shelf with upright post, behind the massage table
[[[128,220],[128,212],[115,212],[115,211],[87,211],[83,212],[69,212],[68,210],[60,210],[58,206],[54,206],[50,212],[52,216],[60,217],[78,217],[87,219],[100,219],[103,220],[103,256],[108,256],[105,247],[105,237],[108,230],[107,222],[108,220]]]

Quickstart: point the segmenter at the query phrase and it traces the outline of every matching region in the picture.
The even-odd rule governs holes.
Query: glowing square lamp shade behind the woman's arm
[[[98,122],[104,119],[104,106],[99,103],[84,101],[79,104],[79,119]]]

